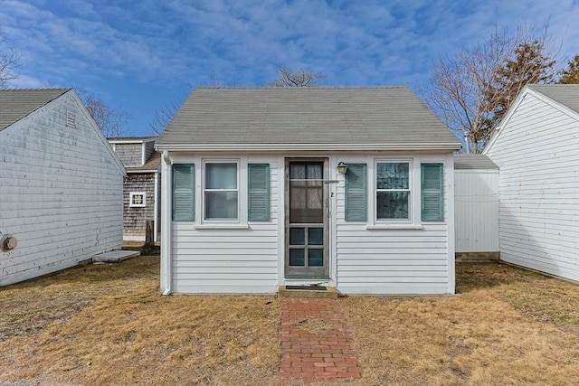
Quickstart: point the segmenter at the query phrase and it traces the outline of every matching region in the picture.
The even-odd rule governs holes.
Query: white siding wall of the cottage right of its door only
[[[395,156],[394,156],[395,157]],[[379,159],[389,159],[381,156]],[[408,158],[403,156],[402,158]],[[346,159],[368,165],[368,200],[374,189],[374,157]],[[420,225],[420,164],[442,162],[445,199],[444,222],[425,222],[422,229],[373,229],[366,223],[344,221],[344,184],[337,190],[337,288],[346,294],[447,294],[454,292],[454,249],[449,240],[453,221],[452,157],[414,155],[414,211]],[[450,169],[449,169],[450,167]],[[339,177],[338,177],[339,178]],[[342,177],[343,178],[343,177]],[[370,205],[372,207],[372,205]],[[450,215],[450,217],[449,217]],[[368,223],[374,213],[368,211]],[[451,257],[451,258],[450,258]]]

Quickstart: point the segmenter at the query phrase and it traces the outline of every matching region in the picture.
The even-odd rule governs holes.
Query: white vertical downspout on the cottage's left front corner
[[[161,292],[171,294],[171,160],[169,153],[163,151],[161,157]]]

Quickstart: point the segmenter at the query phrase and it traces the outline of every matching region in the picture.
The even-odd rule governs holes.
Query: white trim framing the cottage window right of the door
[[[378,164],[386,163],[407,163],[408,165],[408,187],[410,191],[410,198],[408,200],[408,219],[380,219],[377,218],[376,212],[376,192],[377,192],[377,170]],[[412,158],[374,158],[372,165],[372,170],[368,173],[369,184],[372,191],[368,192],[370,196],[368,197],[369,208],[369,222],[366,225],[366,230],[421,230],[422,224],[420,221],[420,165],[421,160],[419,157]],[[418,165],[418,166],[417,166]],[[416,171],[416,167],[419,168]],[[417,214],[418,213],[418,214]],[[371,216],[371,217],[370,217]]]

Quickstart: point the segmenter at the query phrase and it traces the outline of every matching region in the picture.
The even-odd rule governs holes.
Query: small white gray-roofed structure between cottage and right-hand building
[[[454,156],[456,256],[499,259],[498,166],[487,155]]]

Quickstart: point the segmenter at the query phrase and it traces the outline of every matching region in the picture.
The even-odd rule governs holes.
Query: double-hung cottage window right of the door
[[[410,161],[375,164],[376,221],[412,220]]]

